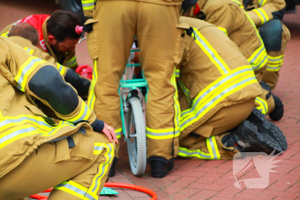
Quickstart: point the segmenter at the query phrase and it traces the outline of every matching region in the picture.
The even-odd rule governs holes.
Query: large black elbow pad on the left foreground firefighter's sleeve
[[[29,89],[61,115],[69,115],[79,103],[73,88],[64,82],[58,70],[46,65],[32,76],[28,83]]]

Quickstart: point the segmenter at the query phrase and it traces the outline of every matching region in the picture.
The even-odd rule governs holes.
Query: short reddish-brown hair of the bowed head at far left
[[[39,44],[38,30],[29,23],[12,26],[7,36],[20,36],[30,40],[34,46]]]

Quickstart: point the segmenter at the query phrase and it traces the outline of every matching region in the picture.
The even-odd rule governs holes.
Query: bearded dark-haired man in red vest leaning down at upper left
[[[19,23],[28,23],[38,30],[41,51],[49,53],[55,62],[76,69],[75,44],[80,35],[75,27],[81,22],[75,14],[56,10],[51,16],[30,15],[6,26],[0,31],[0,36],[7,37],[11,28]]]

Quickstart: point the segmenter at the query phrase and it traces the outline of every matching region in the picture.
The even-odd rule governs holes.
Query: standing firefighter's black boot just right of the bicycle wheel
[[[154,178],[164,178],[168,172],[174,168],[174,159],[167,160],[160,156],[151,156],[148,158],[151,166],[151,175]]]

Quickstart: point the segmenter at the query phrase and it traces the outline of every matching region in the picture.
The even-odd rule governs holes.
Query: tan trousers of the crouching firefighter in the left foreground
[[[0,179],[0,199],[16,200],[51,187],[54,189],[49,200],[81,200],[84,196],[89,200],[98,199],[101,188],[108,179],[115,143],[109,143],[104,134],[94,132],[93,160],[87,160],[78,157],[79,154],[88,153],[85,148],[90,145],[85,139],[87,136],[77,132],[71,137],[75,147],[69,148],[69,152],[66,152],[63,145],[58,145],[67,139],[45,143],[4,175]],[[70,158],[60,161],[66,156]]]

